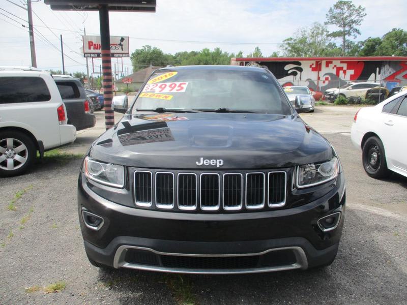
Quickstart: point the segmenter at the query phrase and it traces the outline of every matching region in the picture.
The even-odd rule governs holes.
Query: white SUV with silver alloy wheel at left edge
[[[27,71],[28,70],[28,71]],[[76,139],[49,72],[0,67],[0,176],[25,172],[37,151]]]

